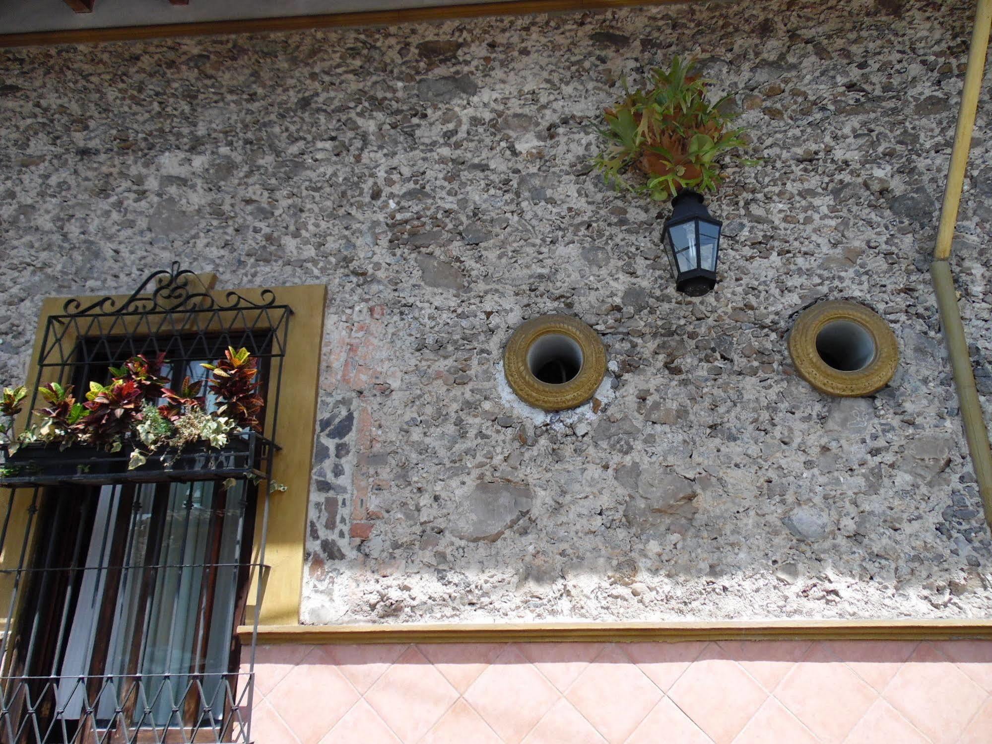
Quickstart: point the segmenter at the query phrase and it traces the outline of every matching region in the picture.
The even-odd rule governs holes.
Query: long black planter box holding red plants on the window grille
[[[129,444],[117,452],[81,444],[64,449],[58,444],[24,444],[13,455],[4,452],[0,487],[262,478],[276,448],[260,434],[242,432],[232,435],[219,449],[202,442],[180,452],[153,452],[144,464],[129,469],[135,449]]]

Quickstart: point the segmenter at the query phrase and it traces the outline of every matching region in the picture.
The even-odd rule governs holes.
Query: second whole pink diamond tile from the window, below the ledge
[[[369,705],[404,744],[413,744],[430,731],[457,697],[415,647],[403,652],[365,693]]]

